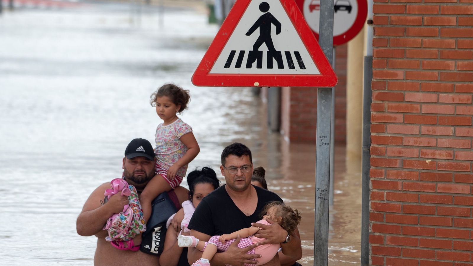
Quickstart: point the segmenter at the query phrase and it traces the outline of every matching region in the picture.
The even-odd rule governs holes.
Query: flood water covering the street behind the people
[[[161,122],[149,95],[174,82],[191,91],[181,117],[201,147],[189,169],[218,171],[222,149],[245,143],[269,189],[302,211],[300,263],[313,265],[315,145],[269,133],[250,88],[192,85],[218,27],[191,8],[163,16],[147,8],[139,18],[128,3],[78,3],[0,17],[0,264],[93,265],[96,239],[77,235],[76,218],[98,185],[121,176],[131,139],[153,143]],[[337,147],[329,231],[337,266],[360,257],[360,178],[345,173],[344,158]]]

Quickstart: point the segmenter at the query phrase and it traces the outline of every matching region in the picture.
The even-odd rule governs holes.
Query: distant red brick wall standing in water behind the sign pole
[[[335,52],[335,142],[346,141],[347,45]],[[281,94],[281,131],[291,142],[315,142],[317,124],[317,89],[284,88]]]

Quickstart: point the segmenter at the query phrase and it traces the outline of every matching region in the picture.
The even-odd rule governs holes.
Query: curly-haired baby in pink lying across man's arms
[[[292,209],[288,205],[276,201],[266,204],[263,208],[262,214],[263,219],[257,223],[271,225],[266,221],[266,219],[271,219],[272,221],[279,223],[279,225],[284,230],[288,231],[289,234],[294,233],[301,219],[298,210]],[[231,234],[213,236],[208,242],[200,241],[193,236],[180,235],[177,241],[179,247],[195,247],[203,251],[202,257],[194,262],[192,266],[210,266],[210,260],[213,258],[215,253],[217,253],[217,251],[226,251],[238,235],[242,238],[240,239],[240,243],[237,245],[238,248],[246,248],[263,241],[264,239],[253,236],[260,229],[261,228],[259,227],[252,226]],[[280,247],[280,244],[264,244],[251,249],[247,254],[261,255],[258,259],[258,263],[251,265],[263,265],[269,262],[278,253]]]

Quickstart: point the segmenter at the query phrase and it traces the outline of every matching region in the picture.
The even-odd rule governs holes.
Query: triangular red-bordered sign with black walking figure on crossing
[[[236,0],[196,86],[333,87],[337,77],[294,0]]]

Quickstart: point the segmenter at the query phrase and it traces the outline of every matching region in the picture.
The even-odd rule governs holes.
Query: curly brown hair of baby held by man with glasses
[[[298,224],[300,223],[300,219],[302,218],[300,216],[300,212],[297,209],[292,209],[282,202],[272,201],[264,206],[261,216],[263,217],[263,215],[266,215],[271,207],[275,207],[278,210],[276,212],[276,216],[280,216],[282,218],[282,220],[279,222],[279,225],[284,230],[288,231],[289,234],[294,233]]]

